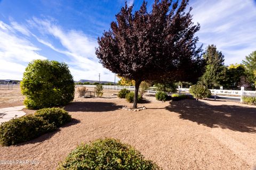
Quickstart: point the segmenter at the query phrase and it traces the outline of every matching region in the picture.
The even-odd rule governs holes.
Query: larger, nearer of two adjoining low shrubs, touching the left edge
[[[56,126],[34,115],[14,118],[0,125],[0,143],[3,146],[15,145],[40,135],[54,131]]]

